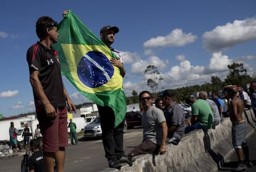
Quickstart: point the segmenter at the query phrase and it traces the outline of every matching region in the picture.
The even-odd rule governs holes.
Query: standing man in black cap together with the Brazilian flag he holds
[[[62,74],[85,97],[98,105],[103,130],[105,157],[110,168],[132,165],[123,150],[126,95],[122,78],[126,74],[121,55],[111,44],[119,28],[106,26],[95,36],[72,12],[65,10],[58,25],[59,42],[54,45],[61,59]]]

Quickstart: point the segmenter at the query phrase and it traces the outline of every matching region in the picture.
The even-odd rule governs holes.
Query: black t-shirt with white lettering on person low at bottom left
[[[35,170],[35,172],[46,172],[42,150],[34,152],[28,159],[28,168],[29,170]]]

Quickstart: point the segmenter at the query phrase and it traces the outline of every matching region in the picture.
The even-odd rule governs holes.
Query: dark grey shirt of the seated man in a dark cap
[[[166,118],[168,128],[171,126],[178,126],[173,135],[168,137],[175,137],[180,141],[184,135],[186,123],[184,110],[176,102],[174,102],[173,105],[170,105],[166,110],[164,110],[164,117]]]

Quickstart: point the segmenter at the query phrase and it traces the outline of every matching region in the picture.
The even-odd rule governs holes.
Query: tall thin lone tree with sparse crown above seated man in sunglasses
[[[155,65],[148,65],[144,73],[151,76],[151,78],[147,80],[147,85],[149,86],[151,91],[156,94],[156,91],[158,89],[158,83],[161,83],[161,81],[163,81],[161,73],[158,71]]]

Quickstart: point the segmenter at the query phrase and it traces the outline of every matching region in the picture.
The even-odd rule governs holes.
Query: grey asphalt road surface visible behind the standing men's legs
[[[101,139],[79,139],[79,145],[70,145],[66,149],[65,171],[101,171],[108,168],[108,161]],[[124,151],[126,154],[142,142],[142,128],[128,129],[124,134]],[[20,170],[22,155],[0,158],[0,171],[17,172]]]

